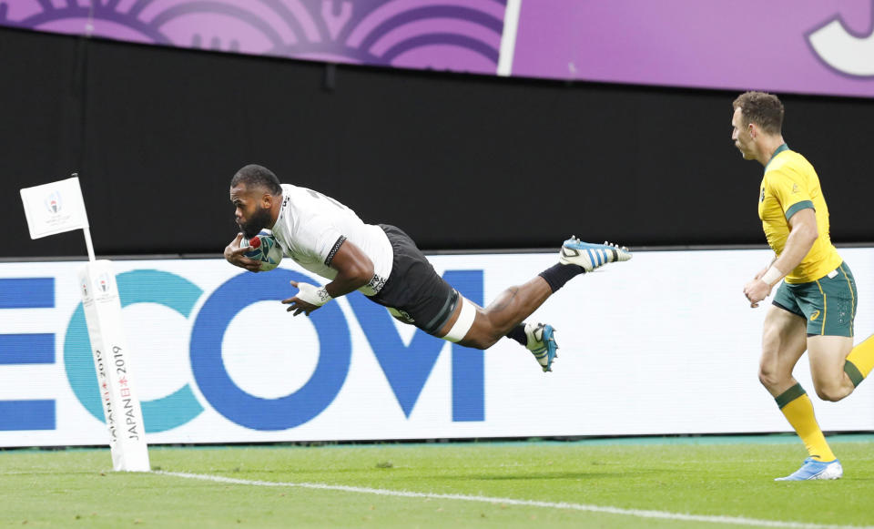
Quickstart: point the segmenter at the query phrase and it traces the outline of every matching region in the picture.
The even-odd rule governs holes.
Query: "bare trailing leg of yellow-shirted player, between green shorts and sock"
[[[823,401],[837,402],[856,389],[844,371],[853,339],[845,336],[811,336],[808,338],[810,375],[817,395]]]

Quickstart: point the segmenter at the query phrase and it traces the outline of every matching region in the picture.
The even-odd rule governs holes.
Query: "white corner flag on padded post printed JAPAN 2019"
[[[100,400],[107,420],[112,466],[117,471],[148,472],[151,468],[146,427],[131,382],[116,274],[111,261],[94,257],[79,178],[74,175],[66,180],[21,189],[21,200],[31,239],[73,229],[84,230],[88,262],[79,270],[78,280]]]

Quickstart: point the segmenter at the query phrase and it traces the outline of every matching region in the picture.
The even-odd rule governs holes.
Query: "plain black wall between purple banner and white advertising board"
[[[0,257],[31,240],[17,189],[78,172],[98,255],[218,255],[252,162],[400,226],[423,249],[759,245],[761,166],[730,141],[735,92],[267,59],[0,29]],[[837,242],[869,242],[869,99],[780,94]]]

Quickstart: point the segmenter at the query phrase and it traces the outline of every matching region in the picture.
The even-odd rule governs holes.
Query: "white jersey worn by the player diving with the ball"
[[[373,279],[359,289],[365,296],[379,292],[391,274],[394,253],[385,231],[318,191],[282,184],[282,207],[272,231],[284,257],[328,280],[337,277],[330,260],[350,240],[373,262]]]

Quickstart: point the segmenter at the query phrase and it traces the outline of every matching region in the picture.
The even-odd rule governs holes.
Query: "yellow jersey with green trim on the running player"
[[[843,259],[828,236],[828,206],[817,172],[807,158],[783,144],[765,166],[758,199],[758,218],[762,219],[767,244],[777,255],[789,237],[788,219],[806,208],[816,211],[819,237],[801,264],[788,273],[785,279],[788,283],[818,280],[837,269]]]

